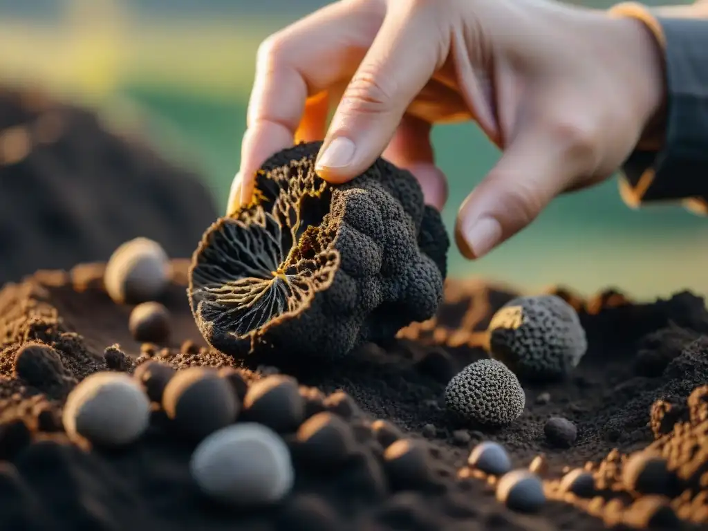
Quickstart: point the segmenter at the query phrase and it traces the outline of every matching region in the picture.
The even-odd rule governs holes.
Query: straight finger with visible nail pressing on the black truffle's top
[[[436,16],[432,6],[389,3],[333,115],[315,166],[322,178],[343,183],[371,166],[394,136],[406,108],[442,64],[442,40],[430,31],[428,20]]]

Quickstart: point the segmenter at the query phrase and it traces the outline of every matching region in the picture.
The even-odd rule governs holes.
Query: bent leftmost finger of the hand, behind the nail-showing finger
[[[308,96],[353,74],[383,16],[338,2],[263,42],[241,143],[241,202],[250,200],[263,161],[292,146]]]

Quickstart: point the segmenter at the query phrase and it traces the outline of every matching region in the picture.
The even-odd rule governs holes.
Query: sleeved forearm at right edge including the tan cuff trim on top
[[[622,197],[630,205],[708,197],[708,1],[621,4],[612,13],[645,23],[663,48],[666,72],[666,105],[624,164]]]

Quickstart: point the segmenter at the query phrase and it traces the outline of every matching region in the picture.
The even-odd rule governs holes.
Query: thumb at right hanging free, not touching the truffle
[[[530,224],[566,188],[573,166],[549,135],[518,135],[459,208],[460,252],[480,258]]]

